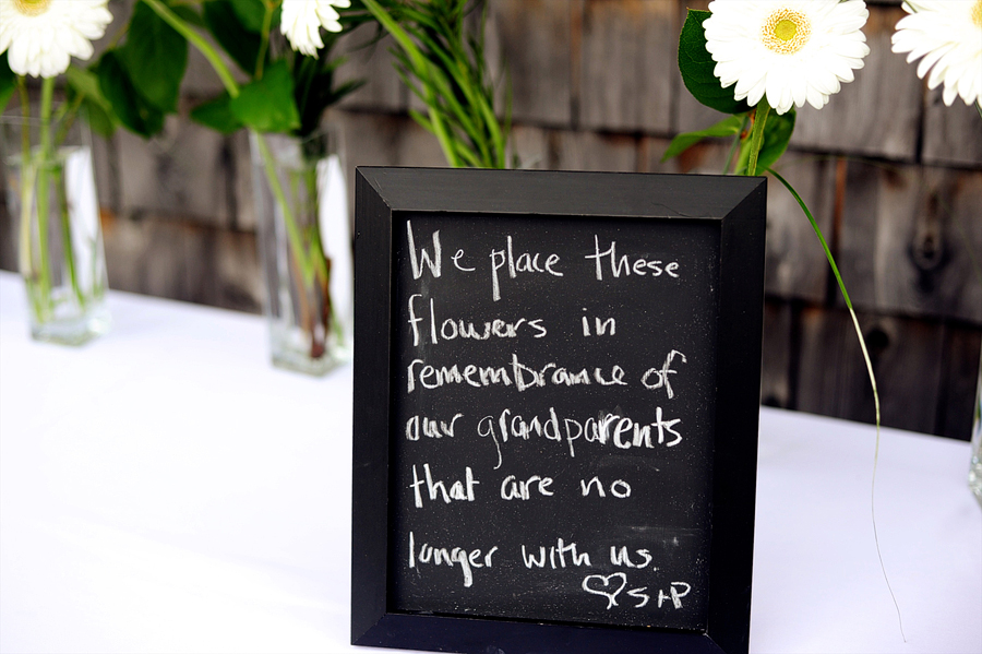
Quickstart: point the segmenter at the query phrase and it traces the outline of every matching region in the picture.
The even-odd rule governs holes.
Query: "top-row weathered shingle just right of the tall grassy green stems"
[[[554,127],[573,122],[570,0],[489,0],[488,62],[511,71],[515,120]]]

